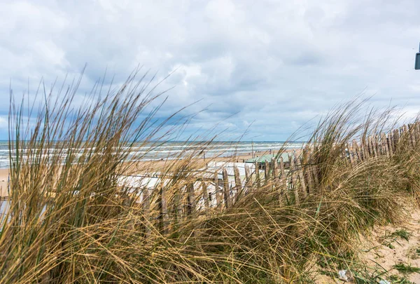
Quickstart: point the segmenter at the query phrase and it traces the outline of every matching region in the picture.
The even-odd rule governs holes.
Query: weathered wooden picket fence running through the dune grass
[[[405,147],[416,147],[419,139],[419,123],[402,126],[389,133],[361,137],[343,147],[342,162],[346,166],[354,167],[369,158],[391,158],[401,149],[406,149]],[[272,158],[271,163],[265,161],[264,170],[259,170],[257,163],[253,170],[245,165],[244,178],[239,176],[237,167],[234,168],[233,178],[228,176],[226,168],[222,168],[222,179],[218,177],[218,173],[214,173],[213,179],[197,177],[197,180],[190,181],[184,189],[177,191],[175,196],[170,196],[165,187],[147,189],[141,204],[147,212],[155,204],[158,213],[153,219],[160,220],[162,231],[167,233],[172,222],[188,219],[197,213],[208,215],[215,210],[227,210],[253,189],[265,187],[267,192],[279,191],[276,193],[279,199],[286,198],[289,203],[300,203],[320,183],[320,168],[315,161],[316,151],[315,145],[302,149],[298,156],[289,154],[288,163],[281,157],[279,160]],[[153,193],[155,198],[152,198]]]

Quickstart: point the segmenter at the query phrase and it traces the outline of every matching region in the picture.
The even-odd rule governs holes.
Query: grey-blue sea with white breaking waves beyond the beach
[[[183,155],[197,154],[200,151],[200,158],[211,158],[214,156],[232,156],[256,153],[275,153],[281,147],[286,149],[299,149],[303,142],[288,142],[285,147],[283,141],[262,141],[262,142],[148,142],[133,144],[130,146],[130,154],[127,161],[153,161],[162,159],[182,158]],[[85,149],[76,149],[81,154]],[[74,149],[73,149],[74,151]],[[25,153],[25,151],[24,151]],[[54,153],[54,148],[50,149]],[[77,152],[76,152],[77,153]],[[9,168],[8,141],[0,140],[0,168]]]

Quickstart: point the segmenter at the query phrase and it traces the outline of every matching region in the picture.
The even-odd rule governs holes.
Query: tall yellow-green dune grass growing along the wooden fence
[[[391,158],[357,165],[343,158],[353,139],[393,126],[390,111],[360,114],[365,102],[356,101],[321,119],[304,145],[313,151],[303,166],[316,165],[316,180],[300,203],[279,197],[285,183],[253,180],[229,208],[197,210],[200,196],[185,189],[205,174],[200,147],[162,165],[167,182],[148,192],[149,206],[139,203],[119,179],[134,166],[127,157],[179,128],[168,123],[174,116],[154,119],[159,95],[136,75],[79,108],[77,83],[47,94],[30,119],[23,102],[10,101],[0,283],[311,283],[320,268],[358,267],[358,235],[416,205],[420,144],[401,139]]]

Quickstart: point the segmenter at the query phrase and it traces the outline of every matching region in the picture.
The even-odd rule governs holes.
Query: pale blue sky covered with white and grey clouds
[[[171,74],[158,116],[195,103],[187,134],[286,140],[360,94],[414,115],[419,11],[416,0],[0,0],[0,140],[10,86],[31,94],[85,65],[80,96],[105,70],[117,85],[139,65]]]

